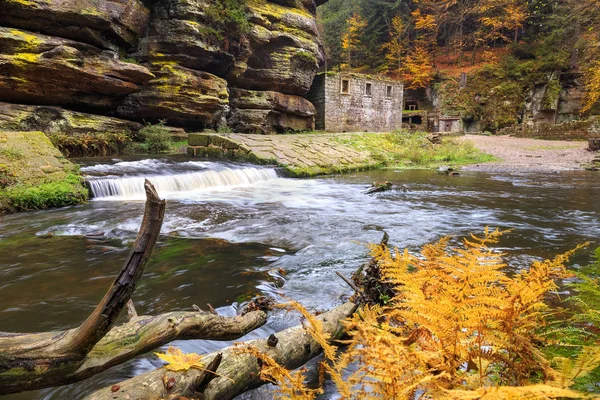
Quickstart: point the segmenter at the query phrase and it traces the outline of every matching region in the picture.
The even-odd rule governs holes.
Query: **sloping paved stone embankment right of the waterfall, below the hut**
[[[380,161],[369,152],[340,144],[343,133],[253,135],[190,133],[188,154],[278,165],[289,176],[314,176],[376,168]]]

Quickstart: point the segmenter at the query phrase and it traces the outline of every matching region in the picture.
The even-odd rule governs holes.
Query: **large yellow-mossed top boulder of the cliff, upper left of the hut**
[[[227,78],[231,86],[299,96],[310,89],[324,62],[314,13],[300,2],[280,3],[248,1],[252,30]]]

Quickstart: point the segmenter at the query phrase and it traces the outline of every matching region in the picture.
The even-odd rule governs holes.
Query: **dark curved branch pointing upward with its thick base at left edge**
[[[83,362],[113,327],[135,290],[158,239],[165,213],[149,181],[144,218],[125,265],[96,309],[77,328],[60,332],[0,333],[0,394],[55,385]]]

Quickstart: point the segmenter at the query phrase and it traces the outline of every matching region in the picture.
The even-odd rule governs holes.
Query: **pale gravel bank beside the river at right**
[[[582,169],[594,154],[587,151],[587,142],[539,140],[510,136],[465,135],[459,140],[470,141],[478,149],[499,161],[463,167],[470,171],[566,171]]]

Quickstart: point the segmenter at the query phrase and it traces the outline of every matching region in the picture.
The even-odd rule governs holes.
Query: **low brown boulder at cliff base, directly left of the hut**
[[[308,100],[271,91],[231,90],[228,124],[245,133],[314,129],[315,107]]]

